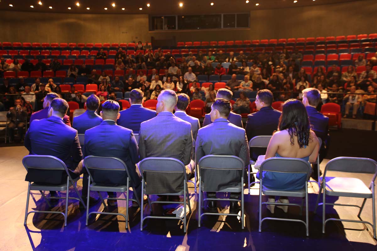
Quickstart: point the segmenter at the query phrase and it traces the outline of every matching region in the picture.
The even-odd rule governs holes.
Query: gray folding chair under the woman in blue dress
[[[263,186],[263,172],[278,172],[278,173],[303,173],[307,175],[305,184],[302,184],[303,188],[300,190],[273,190],[268,187]],[[262,223],[264,220],[277,220],[277,221],[294,221],[302,222],[306,227],[306,235],[309,236],[309,210],[308,210],[308,180],[310,178],[311,166],[308,161],[304,161],[299,158],[269,158],[263,161],[261,168],[259,169],[260,180],[259,180],[259,232],[262,231]],[[302,204],[294,203],[279,203],[279,202],[262,202],[262,193],[264,195],[271,196],[289,196],[289,197],[300,197],[305,199],[305,214],[306,222],[297,219],[285,219],[285,218],[271,218],[266,217],[262,219],[262,204],[273,204],[273,205],[295,205],[299,206],[301,211],[303,207]]]

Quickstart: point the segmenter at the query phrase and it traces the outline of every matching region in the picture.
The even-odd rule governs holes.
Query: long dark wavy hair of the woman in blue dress
[[[309,145],[310,123],[308,113],[301,101],[297,99],[285,101],[278,128],[279,131],[288,129],[291,145],[294,145],[294,136],[297,136],[300,148]]]

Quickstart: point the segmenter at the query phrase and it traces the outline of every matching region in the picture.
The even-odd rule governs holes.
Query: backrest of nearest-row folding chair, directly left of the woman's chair
[[[243,170],[245,167],[244,161],[233,155],[206,155],[198,164],[199,169]]]

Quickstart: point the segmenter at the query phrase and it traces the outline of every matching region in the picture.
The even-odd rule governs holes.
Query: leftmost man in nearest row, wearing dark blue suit
[[[48,109],[48,118],[35,120],[26,132],[25,147],[32,155],[51,155],[59,158],[66,164],[68,170],[72,171],[72,178],[77,177],[83,171],[83,154],[81,152],[80,141],[77,130],[67,126],[63,122],[63,117],[68,110],[68,103],[61,98],[51,101]],[[47,182],[52,184],[64,183],[65,178],[60,171],[43,170],[39,172],[28,172],[26,181]],[[87,175],[84,174],[83,188],[87,187]],[[51,196],[55,196],[55,191],[50,191]],[[83,189],[83,199],[86,199]],[[90,198],[90,204],[95,204],[98,199]],[[56,201],[55,201],[56,202]],[[54,203],[54,202],[53,202]],[[81,205],[81,204],[80,204]]]

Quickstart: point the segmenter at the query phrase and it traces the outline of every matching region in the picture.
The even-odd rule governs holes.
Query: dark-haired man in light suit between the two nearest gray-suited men
[[[193,140],[195,141],[196,135],[198,135],[200,124],[199,124],[199,119],[186,114],[186,109],[187,109],[187,106],[189,106],[189,103],[190,103],[190,97],[187,94],[185,93],[178,94],[177,105],[174,108],[175,110],[174,115],[176,117],[179,117],[179,119],[182,119],[191,124],[192,137],[193,137]]]

